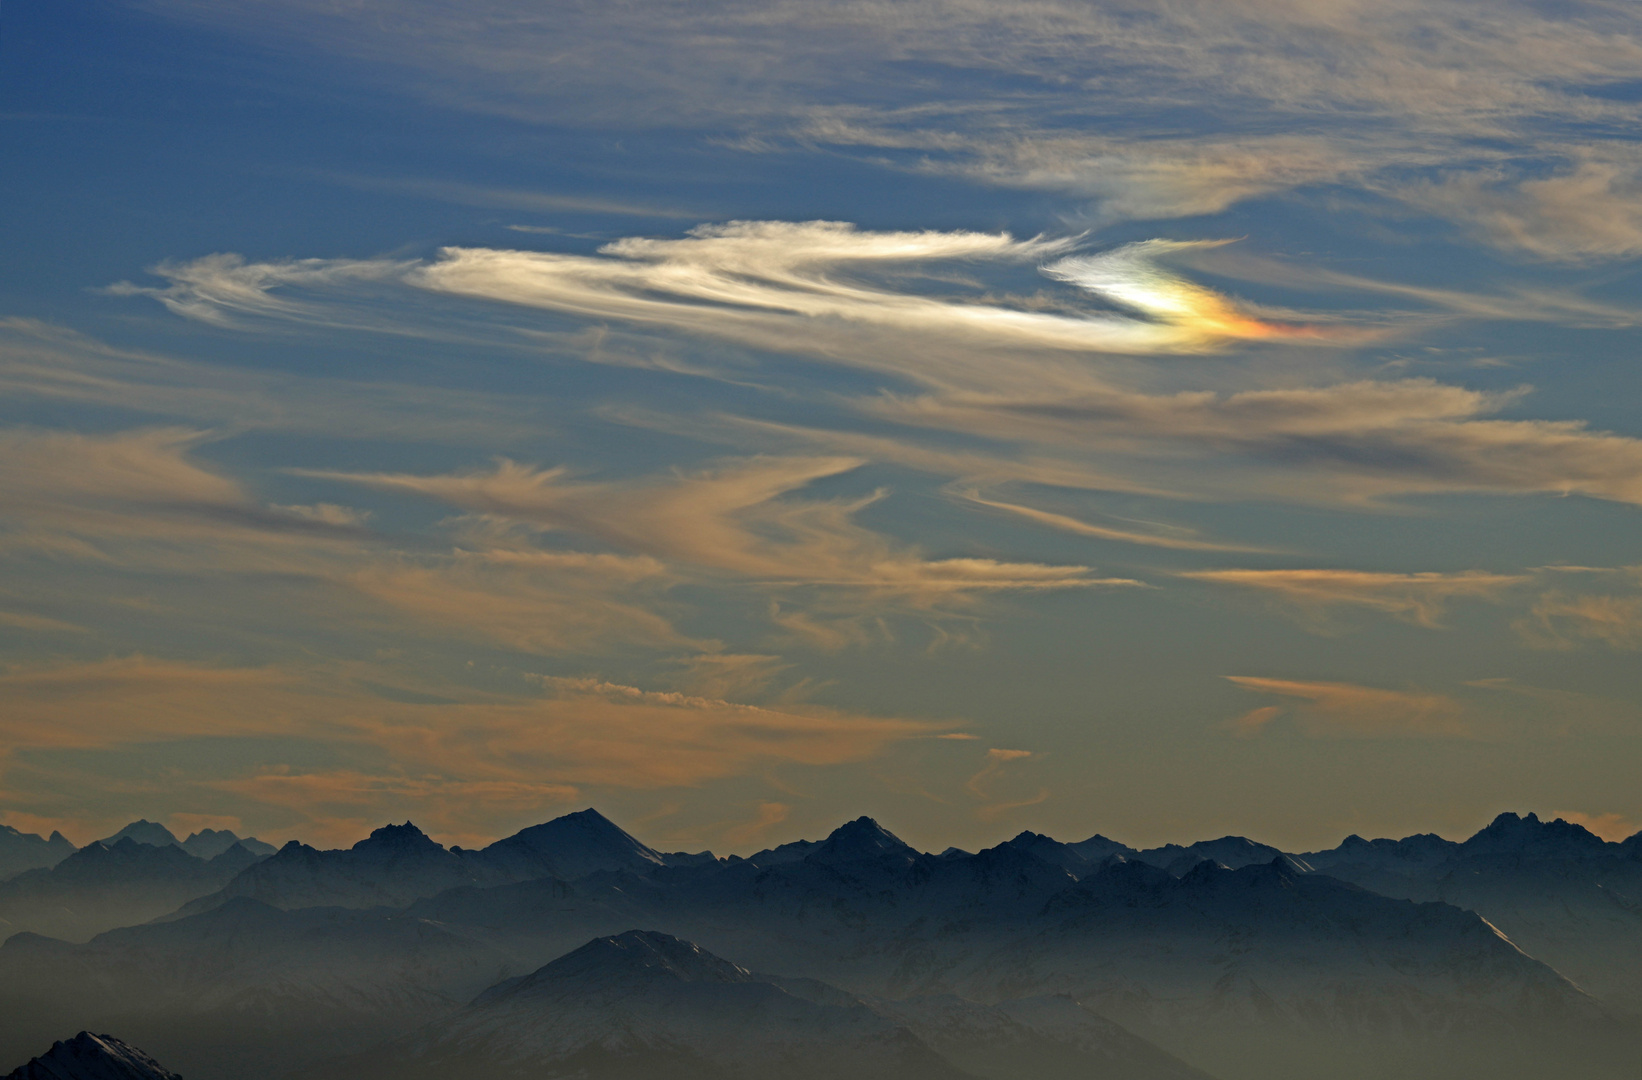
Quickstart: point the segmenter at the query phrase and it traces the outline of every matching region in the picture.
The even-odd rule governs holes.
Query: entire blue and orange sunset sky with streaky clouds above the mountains
[[[1637,72],[1608,0],[7,0],[0,822],[1635,832]]]

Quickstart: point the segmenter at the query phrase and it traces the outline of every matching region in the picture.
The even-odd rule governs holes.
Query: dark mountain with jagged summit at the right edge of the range
[[[1300,858],[1386,896],[1475,911],[1583,990],[1642,1018],[1639,855],[1629,840],[1608,844],[1566,821],[1501,814],[1458,844],[1429,834],[1348,837]]]

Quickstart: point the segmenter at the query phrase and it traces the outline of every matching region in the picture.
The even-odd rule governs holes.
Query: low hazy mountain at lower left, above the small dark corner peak
[[[519,970],[425,919],[250,898],[87,944],[16,934],[0,945],[0,1060],[26,1054],[33,1032],[90,1023],[189,1077],[282,1080]]]

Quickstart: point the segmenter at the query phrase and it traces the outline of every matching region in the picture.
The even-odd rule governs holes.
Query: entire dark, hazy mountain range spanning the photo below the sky
[[[1465,842],[1302,853],[1023,832],[931,855],[862,817],[718,858],[657,852],[589,809],[484,849],[409,822],[343,850],[241,845],[233,873],[189,876],[235,850],[205,862],[126,834],[79,852],[156,878],[171,860],[176,903],[79,944],[13,934],[0,1014],[28,1031],[0,1032],[0,1055],[92,1023],[190,1080],[750,1078],[770,1060],[816,1077],[1634,1080],[1642,1060],[1642,847],[1532,814]],[[0,885],[0,913],[3,890],[69,863]]]

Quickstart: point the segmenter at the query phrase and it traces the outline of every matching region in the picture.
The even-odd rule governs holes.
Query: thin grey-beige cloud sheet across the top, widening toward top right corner
[[[1491,243],[1550,258],[1634,251],[1617,235],[1634,230],[1601,228],[1603,204],[1611,220],[1634,217],[1626,184],[1581,164],[1593,148],[1612,156],[1631,123],[1631,103],[1608,94],[1642,67],[1622,5],[718,0],[548,16],[486,0],[460,18],[435,0],[396,0],[391,18],[386,0],[296,0],[281,15],[245,0],[154,7],[264,48],[340,53],[355,77],[376,72],[443,107],[711,133],[752,153],[854,149],[887,167],[1094,199],[1105,222],[1332,184],[1406,189]],[[1525,174],[1547,131],[1566,162],[1547,187],[1456,181],[1433,194],[1419,176]]]

